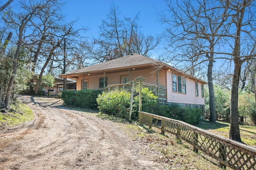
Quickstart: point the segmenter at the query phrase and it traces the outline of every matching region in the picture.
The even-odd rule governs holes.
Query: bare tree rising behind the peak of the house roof
[[[100,38],[94,40],[95,52],[98,53],[97,61],[104,62],[131,53],[149,56],[160,43],[159,37],[152,35],[144,36],[139,31],[139,13],[134,18],[120,19],[118,6],[114,3],[110,6],[107,19],[100,26]]]

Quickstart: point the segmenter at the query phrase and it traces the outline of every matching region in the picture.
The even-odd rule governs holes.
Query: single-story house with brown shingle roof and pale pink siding
[[[76,90],[102,89],[142,76],[146,83],[166,88],[166,102],[204,109],[203,80],[168,64],[138,54],[127,55],[60,75],[77,81]]]

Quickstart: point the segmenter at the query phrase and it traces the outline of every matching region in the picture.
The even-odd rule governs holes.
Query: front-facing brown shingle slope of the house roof
[[[125,68],[129,66],[138,66],[138,65],[146,65],[146,64],[152,64],[152,63],[158,63],[160,61],[150,59],[148,57],[144,57],[142,55],[138,55],[136,53],[132,55],[127,55],[124,57],[120,57],[118,59],[114,59],[111,61],[107,61],[105,63],[96,64],[93,66],[89,66],[86,68],[82,68],[79,70],[75,70],[72,72],[68,72],[66,74],[62,74],[60,76],[68,76],[72,74],[80,74],[84,72],[98,72],[98,71],[106,71],[111,69],[118,69],[118,68]]]

